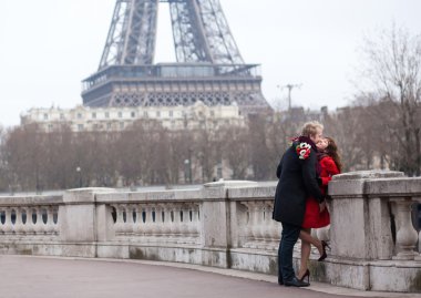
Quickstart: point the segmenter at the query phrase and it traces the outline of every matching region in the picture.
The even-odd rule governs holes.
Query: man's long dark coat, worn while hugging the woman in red
[[[301,226],[306,212],[306,199],[315,197],[324,202],[317,183],[317,148],[310,138],[300,137],[285,152],[276,175],[279,178],[275,193],[273,218],[277,222]],[[311,145],[311,153],[306,160],[300,160],[296,146],[306,140]]]

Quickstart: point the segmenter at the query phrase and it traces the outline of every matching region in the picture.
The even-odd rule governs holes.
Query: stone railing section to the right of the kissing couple
[[[325,280],[359,289],[421,291],[419,236],[411,206],[421,177],[400,172],[356,172],[329,184],[330,265]],[[347,264],[343,267],[339,264]],[[343,270],[346,268],[346,270]]]

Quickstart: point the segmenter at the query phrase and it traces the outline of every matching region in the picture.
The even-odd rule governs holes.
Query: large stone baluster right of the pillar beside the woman
[[[393,259],[411,260],[418,254],[414,251],[418,234],[411,222],[411,205],[413,202],[410,198],[392,198],[396,204],[397,219],[397,256]]]

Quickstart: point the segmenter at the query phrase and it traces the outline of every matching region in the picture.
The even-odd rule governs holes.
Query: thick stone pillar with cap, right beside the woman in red
[[[401,172],[367,171],[333,177],[329,184],[332,257],[391,259],[393,242],[389,198],[380,197],[377,187],[382,187],[381,178],[402,176]],[[376,184],[367,185],[370,181]]]

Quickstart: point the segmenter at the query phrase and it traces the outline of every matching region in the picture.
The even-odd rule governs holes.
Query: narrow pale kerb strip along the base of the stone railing
[[[29,256],[29,255],[1,255],[0,257],[20,257],[20,258],[44,258],[58,260],[84,260],[84,261],[107,261],[107,263],[125,263],[125,264],[140,264],[151,266],[166,266],[181,269],[198,270],[204,273],[218,274],[229,277],[251,279],[256,281],[266,281],[277,284],[277,276],[266,275],[260,273],[251,273],[245,270],[216,268],[195,264],[174,263],[174,261],[160,261],[160,260],[143,260],[143,259],[116,259],[116,258],[83,258],[83,257],[59,257],[59,256]],[[318,292],[326,292],[331,295],[345,295],[355,297],[372,297],[372,298],[421,298],[421,294],[414,292],[387,292],[387,291],[364,291],[351,289],[346,287],[338,287],[326,282],[311,281],[310,287],[302,288]]]

